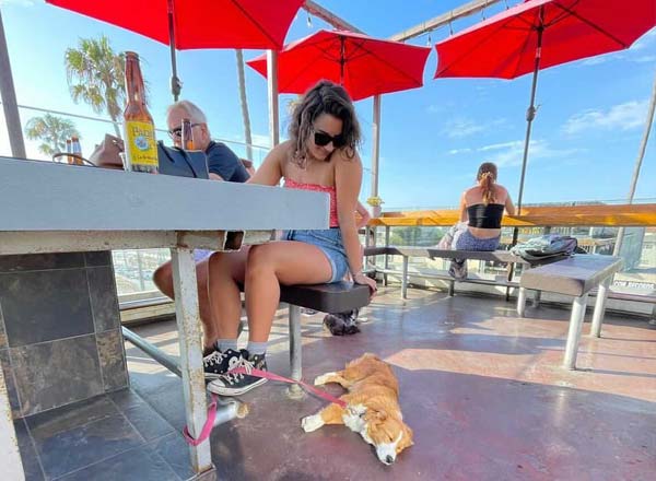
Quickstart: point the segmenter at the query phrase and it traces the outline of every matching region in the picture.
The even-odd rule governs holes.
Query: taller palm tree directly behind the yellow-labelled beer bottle
[[[105,110],[120,136],[118,118],[125,104],[125,56],[116,54],[106,36],[80,38],[78,48],[68,48],[65,64],[73,102],[83,101],[96,114]]]

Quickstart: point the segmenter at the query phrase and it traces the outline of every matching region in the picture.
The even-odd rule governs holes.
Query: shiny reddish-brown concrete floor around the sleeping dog
[[[301,418],[325,401],[290,400],[267,383],[244,396],[250,413],[214,429],[218,478],[230,480],[655,480],[656,328],[607,316],[587,337],[578,371],[560,367],[569,312],[541,306],[518,318],[503,298],[398,289],[364,309],[362,332],[332,337],[321,315],[304,317],[304,379],[342,368],[364,352],[390,363],[414,446],[393,466],[344,426],[306,434]],[[588,313],[588,320],[590,314]],[[174,321],[137,328],[177,355]],[[269,369],[289,374],[286,314],[274,324]],[[245,338],[243,339],[245,341]],[[126,344],[131,386],[176,430],[185,424],[179,379]],[[329,386],[335,395],[338,386]],[[167,459],[184,467],[181,437]],[[175,454],[175,455],[174,455]],[[183,477],[178,473],[178,476]]]

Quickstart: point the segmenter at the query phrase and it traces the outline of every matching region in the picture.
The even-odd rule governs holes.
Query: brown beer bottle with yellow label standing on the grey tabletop
[[[133,51],[126,51],[126,92],[128,105],[124,112],[124,128],[128,168],[156,174],[155,125],[145,106],[139,55]]]

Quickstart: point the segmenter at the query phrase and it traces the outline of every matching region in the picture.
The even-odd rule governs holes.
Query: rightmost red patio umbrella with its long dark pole
[[[522,212],[538,71],[629,48],[656,25],[655,0],[527,0],[435,45],[438,77],[514,79],[532,72],[519,181]]]

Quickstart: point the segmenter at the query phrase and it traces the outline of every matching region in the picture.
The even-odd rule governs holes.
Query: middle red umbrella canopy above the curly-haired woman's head
[[[431,49],[345,31],[318,31],[278,55],[278,90],[301,94],[321,79],[340,83],[354,101],[423,85]],[[247,61],[267,77],[266,56]]]

